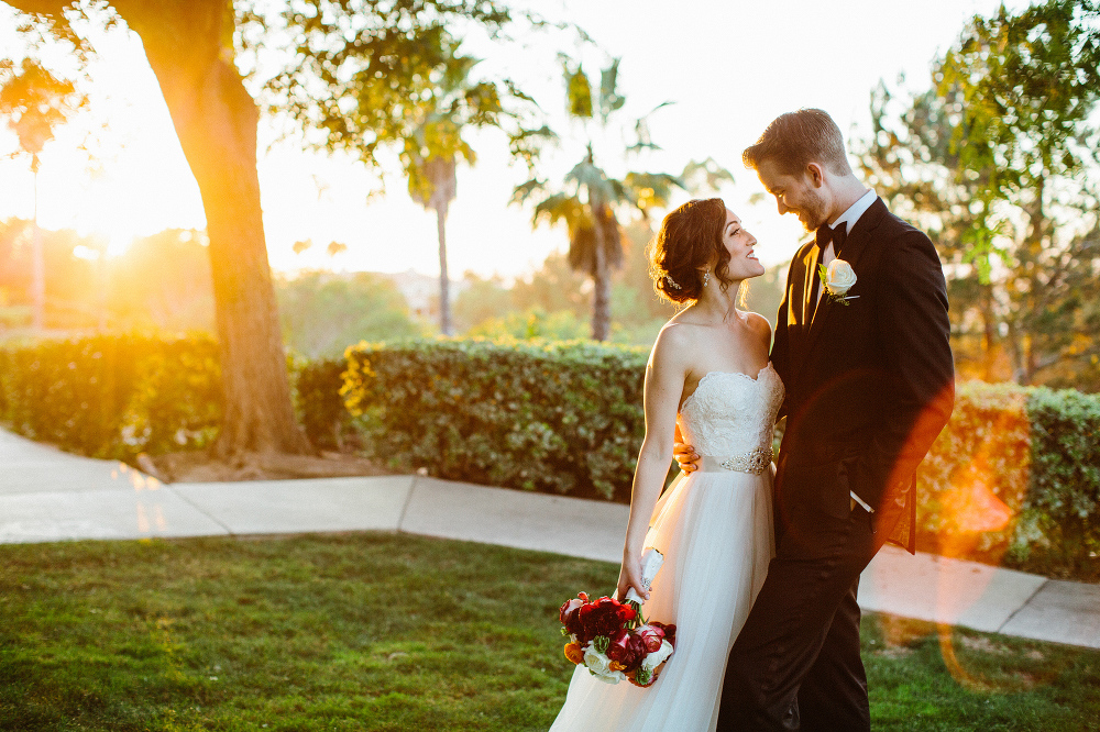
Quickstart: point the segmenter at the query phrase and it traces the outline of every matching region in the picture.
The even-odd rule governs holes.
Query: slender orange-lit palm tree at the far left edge
[[[30,58],[24,59],[18,70],[11,62],[0,65],[0,79],[3,79],[0,114],[8,118],[8,126],[19,140],[20,152],[31,156],[31,174],[34,176],[31,299],[34,303],[34,330],[42,331],[45,325],[46,270],[38,229],[40,156],[46,143],[54,138],[54,131],[68,122],[73,113],[84,107],[87,98],[77,92],[72,81],[58,79]]]

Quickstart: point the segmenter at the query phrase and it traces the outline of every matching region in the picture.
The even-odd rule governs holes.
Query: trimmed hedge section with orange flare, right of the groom
[[[1100,580],[1100,399],[965,384],[920,477],[922,548]]]

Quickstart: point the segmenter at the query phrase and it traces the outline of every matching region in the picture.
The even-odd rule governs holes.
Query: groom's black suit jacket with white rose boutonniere
[[[820,256],[810,243],[792,260],[772,347],[787,386],[777,519],[846,518],[850,490],[875,509],[880,543],[912,552],[916,467],[955,401],[943,266],[882,199],[839,253],[857,277],[847,306],[825,295],[814,307]]]

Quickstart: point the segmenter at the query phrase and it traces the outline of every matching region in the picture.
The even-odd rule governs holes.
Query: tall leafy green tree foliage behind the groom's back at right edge
[[[987,379],[1100,380],[1098,20],[1079,0],[1002,8],[965,29],[931,89],[872,96],[868,180],[933,232],[960,366]]]

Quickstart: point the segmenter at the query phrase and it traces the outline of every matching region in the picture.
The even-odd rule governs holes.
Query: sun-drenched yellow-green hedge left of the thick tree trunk
[[[0,347],[0,420],[62,450],[132,461],[202,447],[221,413],[210,337],[101,335]]]

